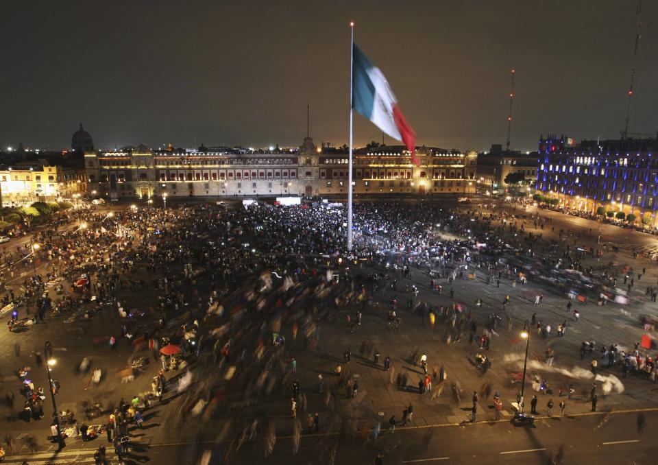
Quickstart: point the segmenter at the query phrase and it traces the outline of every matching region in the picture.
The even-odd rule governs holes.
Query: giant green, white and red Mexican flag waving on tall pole
[[[402,115],[384,74],[356,44],[353,47],[352,108],[393,139],[403,141],[413,164],[420,166],[415,151],[416,134]]]

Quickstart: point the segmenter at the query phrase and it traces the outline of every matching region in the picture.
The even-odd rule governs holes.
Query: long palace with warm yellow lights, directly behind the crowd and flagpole
[[[465,195],[475,192],[476,152],[419,147],[421,166],[403,147],[354,152],[354,192]],[[348,155],[316,147],[299,149],[149,150],[85,152],[88,190],[109,198],[345,195]]]

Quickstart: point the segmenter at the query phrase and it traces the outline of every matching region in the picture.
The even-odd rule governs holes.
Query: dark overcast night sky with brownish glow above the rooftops
[[[348,141],[351,19],[419,145],[539,134],[618,138],[633,0],[3,1],[0,146],[61,149],[80,122],[97,148]],[[630,130],[658,130],[658,2],[637,56]],[[355,145],[379,132],[355,115]],[[387,139],[391,143],[391,139]]]

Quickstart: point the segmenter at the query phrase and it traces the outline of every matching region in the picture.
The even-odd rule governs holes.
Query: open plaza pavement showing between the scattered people
[[[548,212],[548,215],[553,212]],[[540,211],[541,216],[544,211]],[[548,216],[546,215],[546,216]],[[559,229],[559,220],[562,215],[555,214],[556,220],[552,226],[556,226],[556,233]],[[584,220],[585,222],[589,220]],[[587,224],[587,223],[585,223]],[[592,222],[594,224],[594,222]],[[594,224],[596,225],[596,224]],[[526,230],[533,230],[532,224],[529,228],[526,224]],[[593,226],[596,227],[596,226]],[[616,228],[615,226],[610,226]],[[585,229],[586,226],[585,226]],[[627,230],[623,230],[624,233]],[[550,239],[550,225],[543,231],[545,239]],[[583,241],[590,241],[596,243],[596,237],[584,238]],[[650,262],[646,259],[634,260],[629,256],[628,252],[620,252],[620,254],[605,254],[600,263],[607,263],[608,261],[618,261],[621,263],[629,263],[636,270],[641,269],[642,266],[647,267],[647,274],[642,281],[636,281],[636,289],[634,295],[640,300],[644,299],[644,291],[642,287],[649,283],[655,283],[658,278],[658,272],[655,268],[655,262]],[[589,259],[585,260],[585,264],[589,263]],[[594,264],[600,264],[593,261]],[[368,270],[363,270],[367,272]],[[308,411],[300,412],[302,417],[302,425],[305,424],[304,416],[306,413],[319,412],[321,418],[321,431],[328,431],[330,428],[340,428],[340,425],[328,425],[330,421],[330,414],[324,405],[324,397],[317,393],[317,374],[323,374],[326,382],[334,383],[335,377],[332,377],[330,372],[337,366],[338,363],[343,364],[343,351],[345,348],[352,350],[352,362],[348,367],[350,372],[354,374],[359,383],[358,398],[353,400],[344,395],[344,392],[339,396],[339,403],[341,409],[358,408],[358,412],[373,412],[372,416],[361,416],[365,425],[373,426],[376,421],[375,418],[380,418],[382,425],[386,425],[388,418],[395,415],[395,418],[401,420],[402,410],[406,405],[412,403],[415,407],[413,425],[445,425],[452,423],[460,423],[470,418],[470,407],[472,405],[471,396],[474,390],[480,390],[483,383],[491,383],[491,389],[498,390],[504,401],[504,418],[509,418],[511,415],[511,402],[515,401],[516,392],[520,387],[519,384],[511,383],[511,373],[519,372],[520,368],[511,363],[504,363],[504,355],[513,354],[520,357],[524,350],[524,341],[520,338],[519,333],[522,327],[522,322],[531,318],[534,311],[543,322],[550,322],[553,327],[552,337],[545,341],[533,335],[531,339],[531,355],[530,359],[543,359],[546,346],[550,344],[555,350],[555,366],[560,368],[567,368],[571,370],[574,366],[589,369],[590,357],[586,357],[581,361],[578,355],[578,348],[581,341],[584,339],[594,339],[597,345],[600,343],[611,344],[618,343],[620,346],[632,348],[633,343],[639,341],[639,337],[644,333],[642,327],[639,326],[637,317],[644,313],[646,309],[655,309],[655,304],[644,303],[634,308],[626,308],[616,304],[607,305],[605,307],[597,307],[592,303],[587,303],[583,307],[578,307],[581,311],[580,322],[573,323],[564,311],[564,306],[567,302],[565,296],[556,294],[552,289],[538,287],[535,283],[529,282],[528,285],[517,285],[515,288],[511,287],[508,280],[503,279],[500,288],[487,285],[485,282],[485,274],[483,272],[476,272],[477,278],[474,281],[457,280],[454,283],[455,296],[451,300],[448,297],[450,285],[445,280],[441,280],[443,285],[443,296],[437,296],[428,289],[429,276],[420,270],[413,269],[413,283],[419,289],[419,300],[428,302],[433,307],[443,305],[444,307],[452,305],[452,302],[459,302],[472,309],[474,315],[480,322],[482,327],[485,318],[489,313],[496,312],[502,313],[501,302],[504,294],[511,296],[511,302],[508,305],[508,311],[513,318],[513,326],[510,332],[507,331],[504,322],[499,326],[498,337],[493,337],[491,340],[491,349],[489,354],[493,360],[492,368],[484,376],[472,366],[469,359],[478,351],[475,345],[468,344],[467,336],[457,344],[447,345],[445,342],[446,324],[437,320],[435,328],[429,328],[426,321],[419,318],[417,315],[410,313],[404,309],[406,298],[409,296],[404,295],[402,291],[378,291],[375,296],[375,301],[379,301],[379,305],[371,307],[363,313],[363,322],[361,326],[356,326],[355,331],[352,333],[345,324],[345,309],[340,311],[332,321],[318,321],[320,327],[320,350],[313,349],[307,350],[301,344],[298,346],[292,342],[290,334],[287,334],[289,341],[289,348],[291,349],[291,356],[297,359],[297,379],[300,380],[303,392],[308,397]],[[398,289],[404,288],[408,283],[405,278],[400,274],[396,276],[398,279]],[[411,282],[409,282],[411,283]],[[542,305],[533,305],[534,296],[537,293],[544,295],[544,303]],[[400,332],[391,331],[387,325],[387,307],[389,300],[393,297],[398,298],[398,315],[402,318],[402,327]],[[483,309],[475,309],[475,301],[478,297],[483,298],[485,305]],[[621,309],[628,311],[631,316],[622,315]],[[64,319],[64,318],[62,318]],[[568,320],[568,329],[565,337],[559,338],[557,333],[557,324],[563,319]],[[0,335],[0,344],[5,347],[5,351],[0,354],[0,363],[3,367],[3,387],[8,389],[11,386],[12,390],[16,392],[19,383],[17,378],[8,371],[7,367],[19,368],[21,364],[34,365],[33,354],[36,350],[41,350],[42,342],[49,338],[56,348],[68,348],[76,343],[80,343],[83,338],[88,340],[95,336],[107,335],[108,328],[112,332],[119,334],[119,323],[117,319],[106,316],[105,313],[92,320],[92,322],[84,322],[80,319],[72,323],[63,323],[51,318],[49,324],[40,326],[33,326],[27,333],[12,334],[4,333]],[[21,355],[16,357],[12,353],[12,346],[14,342],[20,342]],[[371,363],[371,357],[360,357],[359,346],[362,342],[371,342],[373,348],[380,352],[379,366],[374,366]],[[75,363],[79,363],[82,356],[87,355],[93,357],[95,363],[102,363],[108,366],[108,370],[118,370],[124,366],[127,357],[132,350],[125,347],[126,343],[123,340],[119,348],[114,352],[106,346],[99,346],[97,348],[90,348],[88,353],[71,353],[69,350],[57,351],[58,359],[60,359],[60,366],[71,367]],[[409,356],[413,350],[417,348],[420,351],[425,351],[428,355],[428,367],[444,366],[448,372],[448,384],[458,381],[463,388],[461,395],[461,403],[456,404],[452,398],[450,387],[446,387],[441,396],[432,398],[430,393],[421,395],[417,392],[417,381],[420,379],[422,370],[419,367],[413,366],[409,361]],[[653,353],[653,351],[652,351]],[[382,369],[382,361],[386,355],[390,355],[392,359],[392,366],[397,373],[406,373],[409,377],[409,383],[412,385],[411,390],[399,390],[395,385],[389,385],[388,373]],[[152,359],[151,359],[152,363]],[[600,361],[600,372],[607,374],[609,370],[605,368],[606,361]],[[156,372],[158,363],[152,363],[149,368],[149,373]],[[35,385],[46,385],[45,373],[40,373],[42,370],[34,368],[34,381]],[[59,368],[58,368],[59,370]],[[539,374],[544,377],[543,370],[528,370],[528,374]],[[618,375],[616,371],[613,374]],[[555,394],[552,398],[555,403],[555,411],[557,411],[557,404],[560,399],[557,396],[557,387],[563,386],[566,388],[570,380],[566,377],[558,376],[556,374],[548,374],[546,376],[550,385],[553,387]],[[62,383],[62,390],[58,394],[58,408],[65,409],[66,405],[79,405],[82,400],[80,389],[75,392],[66,389],[69,383],[75,384],[78,388],[82,387],[82,379],[77,378],[77,375],[68,374],[66,380]],[[90,399],[96,398],[111,398],[114,403],[118,403],[120,398],[125,398],[128,401],[132,396],[138,392],[143,392],[150,388],[150,376],[137,377],[132,383],[120,384],[101,383],[95,392],[90,392]],[[576,381],[578,386],[578,394],[587,392],[589,385],[592,381],[583,379]],[[637,377],[629,376],[628,379],[623,380],[625,391],[623,394],[613,394],[600,398],[598,403],[599,410],[613,410],[620,409],[637,409],[644,407],[655,406],[655,388],[646,379],[639,379]],[[437,384],[434,385],[435,390]],[[84,392],[84,388],[82,388]],[[16,393],[17,394],[17,393]],[[528,398],[533,394],[531,385],[526,383],[526,403]],[[541,396],[539,402],[539,413],[544,414],[546,410],[546,401],[550,396]],[[16,401],[19,401],[19,395],[16,395]],[[563,399],[565,399],[564,397]],[[585,414],[589,412],[590,404],[586,401],[567,401],[568,407],[567,414]],[[478,420],[491,420],[495,417],[493,411],[493,403],[491,397],[488,399],[481,398],[478,405]],[[210,431],[208,425],[203,422],[192,422],[186,425],[186,431],[181,433],[171,427],[162,427],[162,425],[175,425],[180,420],[178,416],[179,405],[174,401],[162,406],[155,407],[148,418],[146,425],[158,424],[159,427],[152,427],[151,429],[141,431],[136,438],[137,442],[141,442],[143,447],[147,448],[149,444],[167,444],[171,442],[178,442],[181,440],[191,440],[195,435],[205,434],[206,436]],[[79,408],[79,407],[78,407]],[[51,411],[49,399],[45,402],[45,412],[48,416]],[[6,412],[6,410],[5,410]],[[216,422],[212,422],[217,428],[221,428],[222,422],[226,418],[232,418],[234,425],[244,425],[250,422],[254,416],[266,416],[273,418],[276,421],[278,434],[284,435],[291,431],[292,421],[289,410],[289,396],[284,392],[275,391],[269,398],[258,401],[256,405],[249,406],[244,409],[227,410]],[[46,417],[47,418],[47,417]],[[82,418],[79,414],[78,418]],[[93,421],[90,421],[93,423]],[[3,421],[0,423],[0,433],[4,436],[5,432],[10,431],[14,438],[20,438],[22,434],[32,433],[39,441],[40,450],[45,450],[48,447],[53,449],[53,446],[44,439],[49,431],[49,424],[44,420],[40,422],[31,422],[29,425],[23,422],[8,422]],[[206,431],[204,431],[206,430]],[[215,431],[215,428],[212,429]],[[236,430],[237,432],[237,430]],[[215,431],[216,433],[216,431]],[[74,438],[69,439],[67,450],[96,447],[97,445],[105,443],[105,438],[100,438],[88,444],[82,444],[79,440]],[[20,446],[20,441],[17,441]],[[107,445],[107,444],[106,444]]]

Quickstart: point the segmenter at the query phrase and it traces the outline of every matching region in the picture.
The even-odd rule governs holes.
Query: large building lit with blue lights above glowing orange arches
[[[537,165],[535,188],[559,198],[563,208],[596,213],[604,206],[655,224],[658,134],[653,139],[580,143],[541,136]]]

